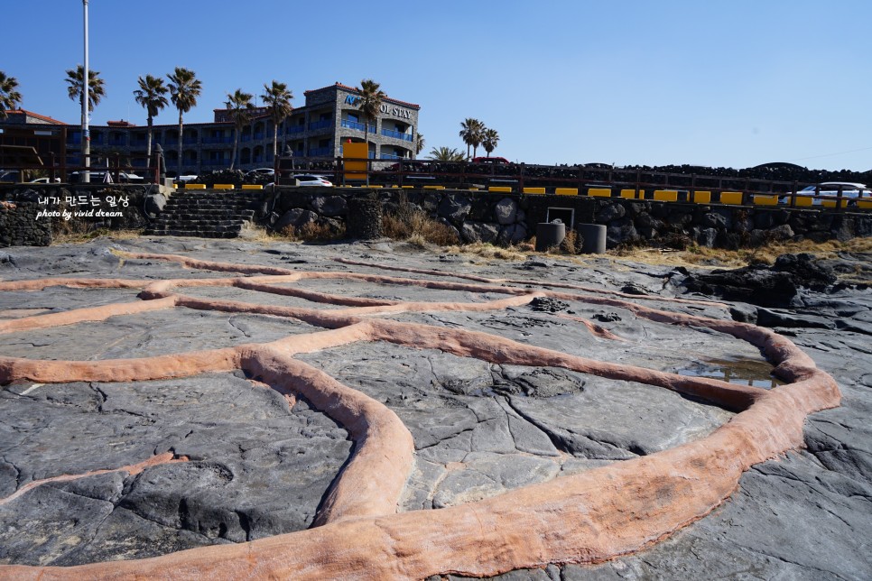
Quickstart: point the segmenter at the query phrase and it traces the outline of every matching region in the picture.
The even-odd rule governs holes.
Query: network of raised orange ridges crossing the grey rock
[[[353,453],[329,489],[309,530],[235,545],[183,550],[156,558],[107,561],[76,567],[0,566],[3,579],[134,578],[292,578],[421,579],[432,575],[496,576],[519,568],[596,563],[645,549],[696,521],[736,490],[750,466],[802,447],[802,427],[814,411],[836,407],[835,381],[790,340],[775,332],[728,319],[704,318],[652,309],[628,301],[631,295],[571,284],[532,291],[529,281],[454,275],[463,282],[398,278],[354,272],[298,272],[250,264],[213,263],[169,254],[125,254],[125,259],[181,263],[189,269],[230,272],[236,278],[132,281],[41,279],[0,282],[0,291],[77,288],[141,289],[142,300],[76,309],[0,322],[0,333],[100,321],[153,309],[209,309],[263,313],[320,327],[266,344],[246,344],[184,354],[103,361],[48,361],[0,357],[0,382],[129,382],[244,370],[283,393],[299,394],[337,421],[354,441]],[[340,261],[385,271],[447,276],[444,272]],[[500,293],[482,302],[404,302],[373,300],[275,286],[304,279],[344,279],[431,289]],[[518,286],[512,286],[513,284]],[[543,283],[544,285],[545,283]],[[341,309],[301,309],[199,299],[186,287],[232,286],[301,297]],[[580,294],[583,292],[584,294]],[[605,296],[604,296],[605,295]],[[539,297],[584,301],[629,309],[635,316],[677,326],[707,327],[758,347],[785,382],[771,390],[714,379],[670,374],[625,364],[609,364],[503,337],[458,328],[398,322],[378,315],[403,311],[493,310],[524,305]],[[635,297],[638,299],[639,297]],[[645,296],[645,300],[700,300]],[[606,340],[617,340],[583,318],[564,317]],[[439,349],[494,364],[554,366],[600,377],[646,383],[711,401],[736,415],[709,436],[645,457],[616,462],[577,475],[565,475],[478,502],[441,510],[397,512],[413,469],[413,438],[403,422],[379,401],[357,392],[294,355],[358,341]],[[146,458],[117,470],[131,473],[184,457]],[[14,496],[57,479],[22,486]],[[0,503],[11,500],[0,499]]]

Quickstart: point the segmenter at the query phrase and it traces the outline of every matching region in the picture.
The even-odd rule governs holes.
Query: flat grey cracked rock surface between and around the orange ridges
[[[486,261],[378,241],[309,245],[98,238],[81,245],[6,249],[9,260],[0,263],[0,279],[237,276],[124,258],[118,250],[416,280],[459,282],[451,275],[473,274],[529,289],[549,282],[603,291],[632,288],[628,300],[637,304],[729,318],[728,309],[717,306],[653,300],[710,299],[687,294],[683,275],[666,266],[551,255]],[[868,257],[841,260],[862,265]],[[391,272],[377,264],[444,276]],[[283,286],[379,300],[481,303],[507,296],[339,279]],[[181,292],[339,308],[236,288]],[[0,291],[0,320],[138,301],[137,293],[66,287]],[[752,316],[758,312],[753,306],[736,307]],[[872,577],[872,291],[801,288],[789,309],[769,311],[764,314],[768,325],[811,355],[843,395],[840,408],[806,421],[805,449],[754,466],[714,512],[635,555],[499,578]],[[777,383],[756,348],[733,337],[660,324],[628,309],[583,300],[373,316],[464,328],[615,364],[764,388]],[[592,333],[580,319],[617,338]],[[288,318],[177,308],[2,335],[0,355],[88,361],[145,357],[267,343],[315,330]],[[553,367],[490,364],[437,349],[362,342],[297,358],[384,403],[410,430],[415,464],[400,511],[438,510],[653,454],[705,437],[733,415],[650,385]],[[310,402],[289,400],[241,371],[153,382],[9,383],[0,391],[0,563],[65,566],[144,558],[304,530],[352,447],[348,432]],[[167,453],[183,461],[136,474],[119,470]],[[13,496],[29,483],[60,475],[84,476]]]

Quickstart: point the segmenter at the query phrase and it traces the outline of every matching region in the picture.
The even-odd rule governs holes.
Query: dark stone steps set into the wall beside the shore
[[[179,190],[146,235],[195,236],[199,238],[236,238],[251,224],[260,191]]]

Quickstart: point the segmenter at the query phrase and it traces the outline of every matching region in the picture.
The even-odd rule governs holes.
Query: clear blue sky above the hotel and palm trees
[[[83,62],[80,0],[5,2],[0,70],[23,107],[67,123]],[[145,124],[136,78],[196,71],[210,121],[227,92],[373,78],[419,104],[427,147],[465,149],[467,117],[528,163],[793,161],[872,169],[869,0],[90,0],[92,124]],[[172,105],[156,123],[172,124]]]

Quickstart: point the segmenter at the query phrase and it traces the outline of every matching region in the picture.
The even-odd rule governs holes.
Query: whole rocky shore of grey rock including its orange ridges
[[[870,258],[5,249],[0,578],[119,559],[303,578],[281,568],[301,555],[312,578],[868,578]],[[812,375],[819,391],[795,396]],[[794,400],[811,410],[795,433]],[[777,401],[775,420],[754,401]],[[676,472],[689,488],[661,479]],[[243,543],[247,561],[220,561]],[[350,557],[367,552],[390,568]]]

